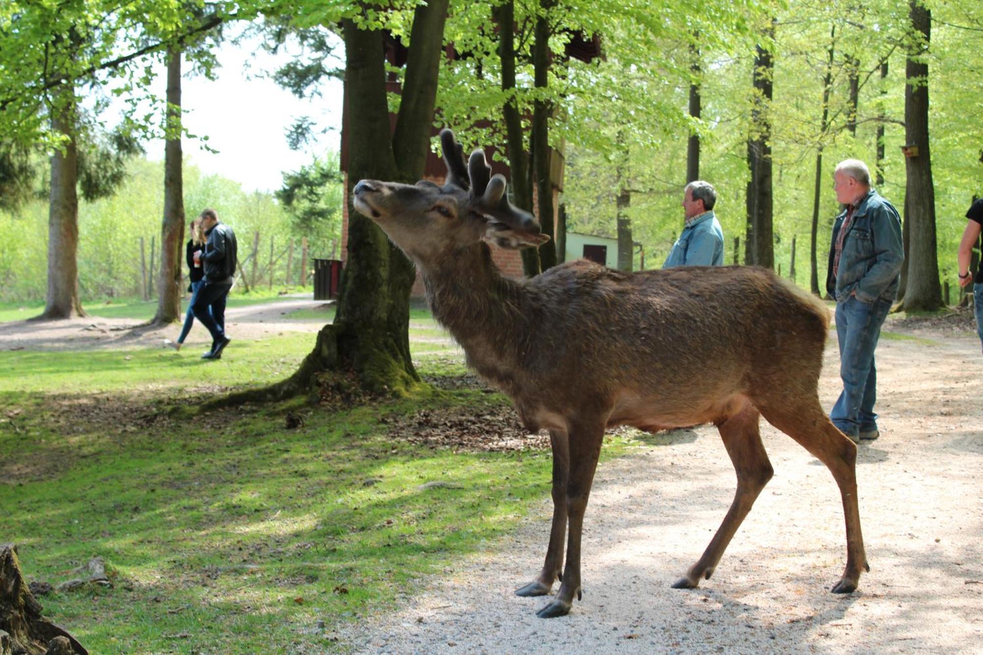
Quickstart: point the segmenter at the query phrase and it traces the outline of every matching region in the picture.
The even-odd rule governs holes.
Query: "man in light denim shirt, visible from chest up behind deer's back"
[[[717,191],[709,182],[686,185],[682,201],[686,225],[663,268],[723,266],[723,230],[714,214],[716,204]]]

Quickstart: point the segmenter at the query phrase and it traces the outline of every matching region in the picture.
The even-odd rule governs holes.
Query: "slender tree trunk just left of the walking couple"
[[[160,275],[153,325],[181,320],[184,255],[184,179],[181,162],[181,50],[167,53],[167,135],[164,145],[164,216],[160,226]]]

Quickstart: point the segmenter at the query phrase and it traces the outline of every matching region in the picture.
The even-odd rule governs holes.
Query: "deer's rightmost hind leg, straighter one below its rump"
[[[860,531],[860,508],[857,504],[857,448],[830,421],[819,399],[800,399],[761,407],[768,422],[781,430],[814,457],[826,464],[837,481],[846,521],[846,567],[833,586],[835,594],[848,594],[857,587],[862,570],[870,570]]]

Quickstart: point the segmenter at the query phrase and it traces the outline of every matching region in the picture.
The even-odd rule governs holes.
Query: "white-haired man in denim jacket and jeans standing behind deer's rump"
[[[833,225],[826,290],[837,301],[839,377],[843,390],[830,419],[854,443],[880,437],[874,402],[874,349],[895,301],[904,249],[897,209],[870,187],[870,170],[844,159],[833,174],[844,209]]]

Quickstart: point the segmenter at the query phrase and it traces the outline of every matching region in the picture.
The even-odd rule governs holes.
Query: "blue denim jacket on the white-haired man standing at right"
[[[900,280],[904,247],[901,219],[894,205],[871,189],[853,212],[839,255],[839,274],[833,269],[839,228],[846,217],[840,212],[833,225],[830,264],[826,273],[826,290],[838,301],[850,294],[870,303],[878,298],[894,301]]]

